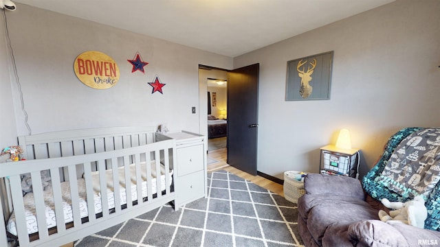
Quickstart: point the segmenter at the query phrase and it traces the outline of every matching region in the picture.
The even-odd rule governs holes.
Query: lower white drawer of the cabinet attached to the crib
[[[179,177],[176,204],[180,207],[188,202],[192,202],[205,196],[205,171],[195,172],[186,176]]]

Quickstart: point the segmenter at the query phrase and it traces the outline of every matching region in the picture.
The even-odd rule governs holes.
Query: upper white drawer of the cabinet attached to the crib
[[[177,176],[203,170],[203,155],[203,144],[177,148]]]

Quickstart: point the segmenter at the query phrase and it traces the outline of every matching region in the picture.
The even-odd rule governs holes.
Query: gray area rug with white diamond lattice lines
[[[208,174],[208,185],[208,198],[162,206],[75,246],[303,246],[296,204],[224,170]]]

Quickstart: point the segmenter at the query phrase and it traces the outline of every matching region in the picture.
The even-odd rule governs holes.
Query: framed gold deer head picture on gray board
[[[330,99],[333,51],[287,62],[286,101]]]

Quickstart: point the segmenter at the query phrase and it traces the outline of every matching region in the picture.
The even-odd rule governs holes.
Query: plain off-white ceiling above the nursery
[[[236,57],[395,0],[13,1]]]

